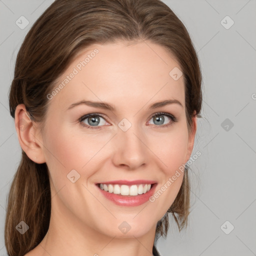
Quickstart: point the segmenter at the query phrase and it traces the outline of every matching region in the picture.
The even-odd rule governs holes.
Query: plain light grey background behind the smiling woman
[[[21,42],[51,2],[0,0],[0,255],[6,253],[6,196],[21,155],[7,94]],[[201,156],[191,165],[189,225],[179,233],[170,221],[168,236],[157,241],[157,248],[162,256],[256,255],[256,1],[164,2],[184,23],[198,52],[203,118],[193,150]],[[24,29],[15,24],[21,15],[29,21]],[[230,25],[230,19],[221,24],[226,15],[234,21],[229,29],[222,24]],[[234,229],[224,233],[231,225]]]

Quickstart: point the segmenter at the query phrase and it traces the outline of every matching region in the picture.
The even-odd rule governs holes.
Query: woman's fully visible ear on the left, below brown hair
[[[19,144],[26,155],[36,163],[45,162],[39,125],[30,119],[24,104],[16,106],[15,128]]]

